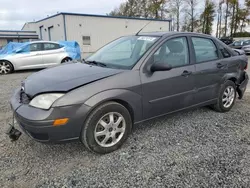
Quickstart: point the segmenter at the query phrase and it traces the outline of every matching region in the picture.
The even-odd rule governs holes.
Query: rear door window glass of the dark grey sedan
[[[217,48],[211,39],[192,37],[196,63],[219,59]]]

